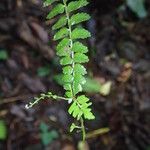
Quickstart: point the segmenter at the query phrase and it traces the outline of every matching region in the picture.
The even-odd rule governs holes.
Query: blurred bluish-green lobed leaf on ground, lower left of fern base
[[[46,146],[50,144],[54,139],[57,139],[59,137],[58,132],[56,130],[49,131],[48,125],[42,122],[40,124],[40,130],[41,130],[41,140],[42,143]]]

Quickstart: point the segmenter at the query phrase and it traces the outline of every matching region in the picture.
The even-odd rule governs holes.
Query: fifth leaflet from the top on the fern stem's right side
[[[74,62],[75,63],[86,63],[89,59],[85,54],[82,53],[75,53],[74,55]]]

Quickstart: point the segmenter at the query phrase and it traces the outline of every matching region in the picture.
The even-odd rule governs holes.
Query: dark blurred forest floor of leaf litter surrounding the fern
[[[0,150],[150,150],[150,1],[91,0],[82,9],[92,33],[83,92],[96,116],[84,145],[69,132],[66,102],[25,109],[42,92],[64,94],[50,10],[42,0],[0,1]]]

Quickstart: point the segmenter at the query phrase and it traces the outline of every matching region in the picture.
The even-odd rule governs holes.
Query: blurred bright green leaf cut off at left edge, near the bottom
[[[0,120],[0,140],[5,140],[7,137],[7,127],[3,120]]]

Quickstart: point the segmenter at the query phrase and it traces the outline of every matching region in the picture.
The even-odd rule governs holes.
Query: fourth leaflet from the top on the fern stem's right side
[[[84,46],[81,42],[75,42],[72,46],[74,52],[87,53],[88,48]]]

